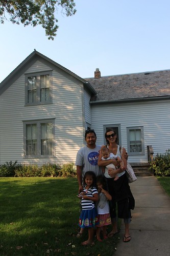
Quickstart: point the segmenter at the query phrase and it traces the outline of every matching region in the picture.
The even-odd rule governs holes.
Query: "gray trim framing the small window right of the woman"
[[[141,152],[130,152],[130,136],[129,136],[129,131],[130,130],[141,130],[141,147],[142,151]],[[127,127],[127,150],[128,150],[128,155],[144,155],[144,130],[143,126],[132,126],[132,127]]]

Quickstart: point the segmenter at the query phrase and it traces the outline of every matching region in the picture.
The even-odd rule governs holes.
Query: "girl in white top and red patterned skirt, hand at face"
[[[108,200],[111,201],[112,196],[109,194],[108,191],[104,189],[105,179],[102,175],[97,177],[96,184],[98,186],[99,192],[99,202],[97,204],[99,224],[96,225],[96,237],[99,242],[102,242],[102,239],[100,237],[101,229],[103,230],[103,239],[107,239],[106,226],[111,224]]]

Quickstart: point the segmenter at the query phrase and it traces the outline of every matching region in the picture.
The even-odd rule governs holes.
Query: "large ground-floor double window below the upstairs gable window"
[[[54,120],[23,122],[25,157],[55,156]]]

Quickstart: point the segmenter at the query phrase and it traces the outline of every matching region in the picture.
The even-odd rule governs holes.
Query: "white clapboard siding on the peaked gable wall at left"
[[[27,72],[39,72],[50,68],[37,61]],[[70,80],[64,72],[53,70],[53,104],[25,106],[25,75],[22,74],[0,96],[0,164],[6,161],[18,163],[75,162],[76,153],[83,145],[82,88],[76,78]],[[47,159],[23,158],[23,123],[28,120],[55,118],[56,157]]]

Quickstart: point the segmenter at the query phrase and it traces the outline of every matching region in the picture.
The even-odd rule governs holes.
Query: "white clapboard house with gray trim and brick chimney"
[[[112,127],[129,162],[170,147],[170,70],[81,78],[34,51],[0,84],[0,164],[75,162],[89,127]]]

